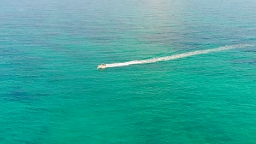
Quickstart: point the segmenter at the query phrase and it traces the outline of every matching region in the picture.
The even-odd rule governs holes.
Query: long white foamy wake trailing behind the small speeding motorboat
[[[181,53],[181,54],[166,56],[166,57],[157,57],[157,58],[144,59],[144,60],[139,60],[139,61],[136,60],[136,61],[124,62],[124,63],[110,63],[110,64],[106,64],[106,68],[123,67],[126,65],[132,65],[132,64],[146,64],[146,63],[155,63],[155,62],[160,62],[160,61],[170,61],[172,59],[178,59],[178,58],[189,57],[189,56],[194,56],[194,55],[201,55],[201,54],[206,54],[206,53],[210,53],[210,52],[236,49],[238,47],[246,47],[246,46],[252,46],[252,45],[241,44],[241,45],[222,46],[222,47],[218,47],[217,49],[186,52],[186,53]]]

